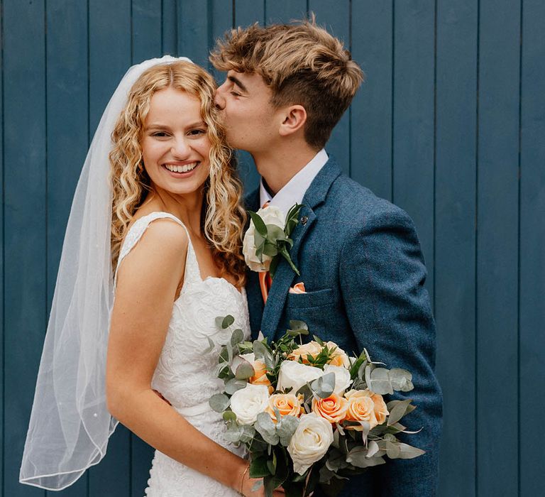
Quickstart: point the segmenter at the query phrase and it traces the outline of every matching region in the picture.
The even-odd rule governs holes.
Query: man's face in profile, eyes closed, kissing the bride
[[[231,147],[252,154],[270,150],[279,127],[271,98],[271,89],[255,72],[227,73],[224,84],[216,90],[216,106]]]

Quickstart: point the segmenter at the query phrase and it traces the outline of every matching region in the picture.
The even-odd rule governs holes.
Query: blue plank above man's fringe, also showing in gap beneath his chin
[[[246,27],[255,22],[262,26],[265,24],[265,0],[235,0],[233,27]],[[245,192],[255,190],[259,185],[260,176],[248,152],[238,151],[238,170],[244,182]]]

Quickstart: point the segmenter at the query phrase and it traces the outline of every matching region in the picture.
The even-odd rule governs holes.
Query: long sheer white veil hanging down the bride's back
[[[111,97],[77,183],[62,245],[19,481],[62,490],[106,454],[117,420],[106,408],[106,347],[114,284],[111,271],[111,133],[141,74],[134,65]]]

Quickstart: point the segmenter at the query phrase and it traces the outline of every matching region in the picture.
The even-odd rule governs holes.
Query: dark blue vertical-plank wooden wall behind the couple
[[[165,53],[206,66],[231,26],[307,11],[367,74],[329,153],[419,229],[444,389],[439,495],[545,495],[544,1],[0,0],[2,496],[45,494],[18,467],[72,192],[123,72]],[[255,185],[248,155],[241,169]],[[61,494],[140,497],[150,456],[120,427]]]

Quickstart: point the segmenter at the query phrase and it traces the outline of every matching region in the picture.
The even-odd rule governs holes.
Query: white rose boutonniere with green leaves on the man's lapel
[[[293,246],[290,235],[299,223],[301,207],[302,204],[295,204],[286,217],[274,205],[263,207],[258,212],[248,211],[251,222],[244,234],[242,251],[251,271],[269,271],[270,277],[273,278],[280,257],[283,257],[299,275],[299,270],[290,257],[290,249]]]

